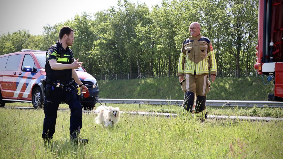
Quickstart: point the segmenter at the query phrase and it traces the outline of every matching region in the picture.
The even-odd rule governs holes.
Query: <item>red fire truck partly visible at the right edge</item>
[[[256,50],[254,68],[274,84],[268,100],[283,101],[283,0],[259,0]]]

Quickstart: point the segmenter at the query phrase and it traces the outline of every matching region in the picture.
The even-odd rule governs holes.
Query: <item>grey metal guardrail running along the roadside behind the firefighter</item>
[[[111,104],[148,104],[148,105],[175,105],[181,106],[184,100],[164,100],[164,99],[103,99],[98,100],[100,103]],[[206,106],[212,107],[278,107],[283,108],[283,102],[255,101],[255,100],[206,100]]]

